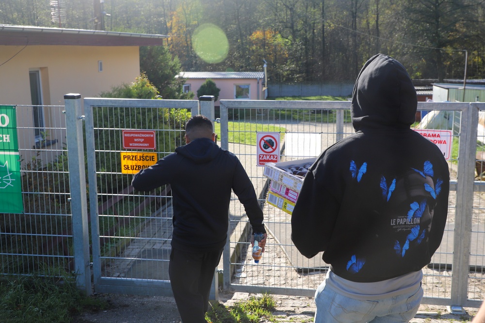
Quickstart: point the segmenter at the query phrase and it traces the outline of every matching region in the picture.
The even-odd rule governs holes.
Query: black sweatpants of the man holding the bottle
[[[207,323],[210,286],[222,251],[186,252],[172,247],[168,274],[183,323]]]

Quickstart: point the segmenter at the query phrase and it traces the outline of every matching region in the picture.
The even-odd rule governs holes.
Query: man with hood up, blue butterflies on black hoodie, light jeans
[[[416,108],[404,66],[373,56],[354,87],[356,134],[320,154],[305,177],[291,238],[304,256],[323,251],[330,264],[315,292],[315,323],[409,322],[419,308],[450,173],[438,147],[410,129]]]

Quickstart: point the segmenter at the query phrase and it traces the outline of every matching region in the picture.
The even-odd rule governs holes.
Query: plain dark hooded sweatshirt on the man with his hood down
[[[253,184],[236,155],[208,138],[198,138],[155,165],[140,170],[131,185],[148,191],[170,184],[173,195],[172,246],[184,251],[224,247],[231,190],[244,205],[253,232],[266,232]]]

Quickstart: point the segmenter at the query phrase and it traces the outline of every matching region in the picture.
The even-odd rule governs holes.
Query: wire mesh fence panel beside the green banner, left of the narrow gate
[[[0,272],[60,275],[74,268],[64,106],[15,109],[23,213],[0,213]]]

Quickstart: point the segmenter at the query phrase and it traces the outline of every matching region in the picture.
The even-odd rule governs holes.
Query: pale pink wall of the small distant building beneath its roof
[[[219,100],[235,100],[234,97],[234,85],[235,84],[250,84],[249,95],[250,100],[263,100],[264,97],[261,93],[263,79],[258,80],[254,78],[212,78],[216,86],[221,89],[219,92],[219,98],[215,102],[215,105],[219,105]],[[194,100],[197,98],[197,90],[202,83],[206,81],[205,78],[188,78],[185,84],[190,84],[192,92],[194,92]],[[259,97],[258,97],[259,92]]]

